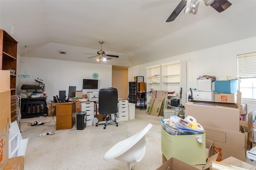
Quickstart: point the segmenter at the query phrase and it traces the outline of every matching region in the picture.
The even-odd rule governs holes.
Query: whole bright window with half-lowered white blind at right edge
[[[256,101],[256,52],[237,55],[237,76],[242,100]]]

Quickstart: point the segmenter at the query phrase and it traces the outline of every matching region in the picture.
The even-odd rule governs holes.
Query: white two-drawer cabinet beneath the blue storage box
[[[191,92],[190,90],[187,90],[187,100],[189,94],[191,94]],[[194,100],[214,101],[214,91],[192,90],[192,96]]]

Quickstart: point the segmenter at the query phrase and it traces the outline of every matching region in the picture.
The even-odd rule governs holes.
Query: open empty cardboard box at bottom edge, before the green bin
[[[164,160],[166,160],[166,158],[163,155],[163,161]],[[198,168],[186,164],[176,158],[170,158],[156,170],[198,170]]]

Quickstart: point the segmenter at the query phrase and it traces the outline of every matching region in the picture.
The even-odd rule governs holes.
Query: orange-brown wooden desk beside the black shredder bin
[[[56,130],[72,129],[76,124],[76,102],[49,104],[56,106]]]

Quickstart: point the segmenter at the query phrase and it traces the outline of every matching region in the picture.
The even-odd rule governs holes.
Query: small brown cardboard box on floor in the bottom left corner
[[[4,170],[24,170],[24,156],[10,158]]]

